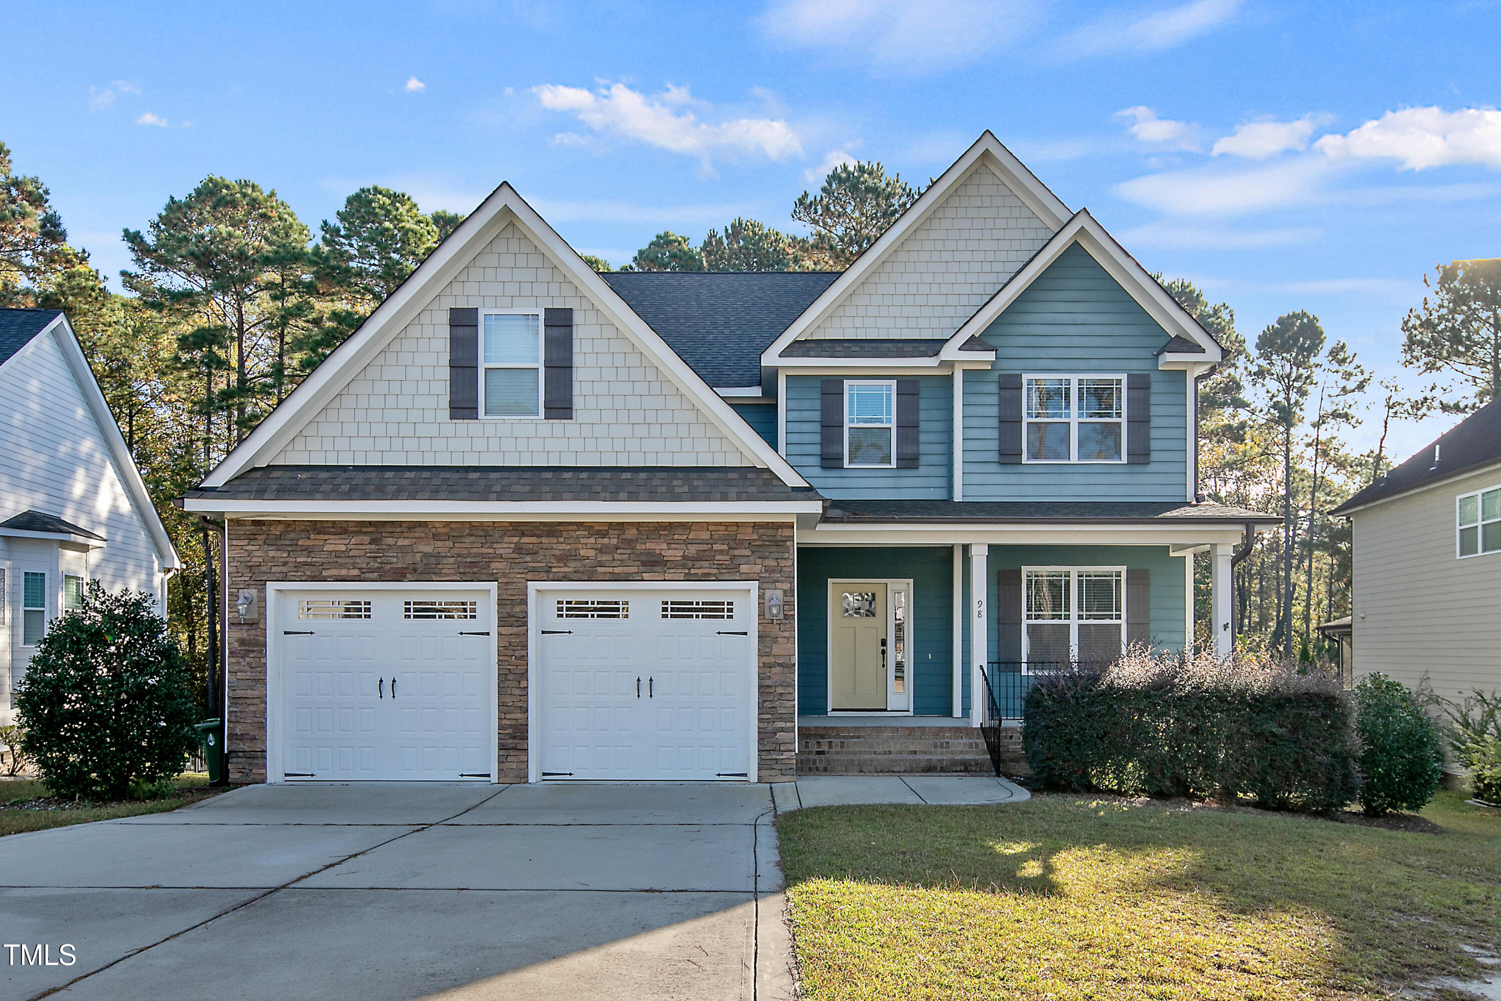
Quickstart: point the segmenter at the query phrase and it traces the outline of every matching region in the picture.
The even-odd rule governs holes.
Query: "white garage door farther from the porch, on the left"
[[[281,777],[494,777],[488,590],[279,591],[276,608]]]

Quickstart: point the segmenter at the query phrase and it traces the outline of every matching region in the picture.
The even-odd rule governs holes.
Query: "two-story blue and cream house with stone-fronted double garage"
[[[989,132],[838,275],[599,275],[501,185],[183,500],[227,525],[231,774],[973,738],[1036,669],[1190,642],[1204,551],[1228,651],[1276,519],[1196,501],[1219,360]]]

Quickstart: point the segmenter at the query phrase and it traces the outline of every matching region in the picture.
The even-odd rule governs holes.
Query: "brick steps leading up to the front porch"
[[[1025,770],[1021,731],[1001,731],[1003,770]],[[985,737],[971,726],[799,725],[797,774],[995,774]]]

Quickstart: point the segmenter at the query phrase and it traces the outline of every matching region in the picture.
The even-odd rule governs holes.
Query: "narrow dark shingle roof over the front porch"
[[[1273,524],[1276,515],[1207,501],[865,501],[841,498],[824,512],[829,521],[953,521],[953,522],[1172,522],[1183,524]]]

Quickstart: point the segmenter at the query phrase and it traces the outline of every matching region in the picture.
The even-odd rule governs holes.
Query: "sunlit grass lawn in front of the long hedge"
[[[1088,795],[784,813],[803,992],[1381,998],[1474,978],[1466,948],[1501,953],[1501,812],[1463,798],[1423,812],[1441,833]]]

